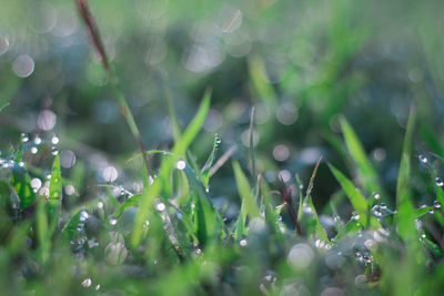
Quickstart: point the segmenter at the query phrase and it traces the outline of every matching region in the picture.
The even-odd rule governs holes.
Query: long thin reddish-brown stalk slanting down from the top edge
[[[97,53],[99,54],[99,58],[102,62],[102,67],[108,75],[108,79],[111,82],[111,85],[113,86],[114,91],[117,92],[117,99],[119,102],[120,112],[122,113],[123,118],[127,120],[127,123],[131,130],[131,133],[134,136],[135,141],[138,142],[139,150],[143,154],[143,163],[147,169],[147,173],[149,175],[152,175],[152,170],[148,162],[148,156],[144,154],[147,149],[142,142],[142,136],[140,134],[138,125],[135,124],[134,116],[132,115],[132,112],[128,105],[128,100],[127,100],[122,89],[120,88],[119,81],[117,80],[117,78],[110,67],[108,54],[104,49],[102,39],[100,37],[99,28],[94,23],[94,19],[90,12],[88,2],[87,2],[87,0],[75,0],[75,4],[77,4],[78,11],[80,13],[80,17],[82,18],[84,24],[88,28],[88,33],[90,35],[91,44],[95,49]]]

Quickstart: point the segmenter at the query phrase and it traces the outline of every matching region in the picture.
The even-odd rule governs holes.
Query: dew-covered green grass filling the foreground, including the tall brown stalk
[[[102,170],[102,182],[82,182],[87,178],[82,164],[74,171],[73,161],[61,162],[59,137],[17,133],[10,149],[0,154],[1,293],[327,296],[444,290],[444,182],[440,177],[444,155],[442,139],[425,121],[427,104],[412,100],[402,122],[403,135],[382,141],[402,146],[395,153],[401,157],[393,161],[395,185],[390,186],[384,170],[375,165],[375,153],[365,150],[366,139],[359,136],[356,114],[335,116],[346,113],[346,102],[326,100],[326,93],[337,99],[362,83],[347,78],[336,84],[337,68],[367,37],[365,28],[344,33],[345,8],[333,9],[337,14],[329,35],[344,34],[350,40],[330,53],[334,62],[325,62],[312,85],[299,92],[299,115],[306,120],[301,124],[321,134],[340,157],[317,153],[317,163],[310,162],[309,177],[297,170],[282,170],[274,181],[262,169],[270,161],[262,154],[263,146],[255,145],[255,134],[262,145],[274,143],[278,121],[289,120],[279,114],[294,110],[280,105],[279,91],[264,82],[262,58],[251,54],[246,60],[249,86],[259,100],[256,106],[281,113],[278,121],[258,126],[260,110],[253,106],[246,112],[248,149],[232,144],[223,149],[224,139],[218,134],[202,144],[214,91],[206,88],[200,93],[195,114],[183,124],[167,88],[173,142],[170,149],[147,150],[87,1],[77,3],[91,48],[113,84],[124,129],[135,140],[133,150],[140,151],[121,156],[123,165],[131,167],[125,177],[140,182],[137,190],[118,185],[118,171],[111,166]],[[239,18],[239,10],[233,18]],[[287,83],[280,85],[285,89]],[[418,89],[413,92],[423,94]],[[314,108],[316,112],[309,108],[319,103],[310,100],[312,95],[325,99],[322,108]],[[9,103],[0,104],[0,112],[8,108]],[[379,132],[383,136],[384,131]],[[427,143],[432,152],[415,154],[415,141]],[[204,153],[203,147],[208,147]],[[33,161],[36,155],[41,156],[39,162]],[[233,187],[239,208],[216,198],[225,188],[213,184],[226,175],[230,182],[223,184]],[[316,197],[331,182],[337,191],[321,207]],[[82,188],[85,184],[94,187],[93,193],[73,198],[78,191],[91,190]]]

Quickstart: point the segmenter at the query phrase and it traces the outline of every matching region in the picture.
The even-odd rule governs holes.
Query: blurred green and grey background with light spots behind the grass
[[[173,144],[169,95],[184,129],[211,86],[211,111],[189,157],[202,166],[218,133],[218,155],[235,146],[232,157],[246,170],[255,106],[258,171],[272,188],[282,178],[295,193],[294,175],[306,184],[321,155],[354,176],[339,125],[344,114],[393,201],[405,124],[415,105],[415,198],[432,200],[433,188],[421,182],[427,167],[418,159],[444,155],[442,1],[89,3],[147,149]],[[72,200],[100,194],[98,183],[137,193],[140,164],[127,162],[137,143],[115,99],[74,1],[2,1],[3,155],[26,143],[26,160],[40,176],[58,150]],[[321,165],[313,193],[319,211],[329,211],[324,204],[337,190]],[[210,182],[210,192],[225,206],[239,203],[230,164]]]

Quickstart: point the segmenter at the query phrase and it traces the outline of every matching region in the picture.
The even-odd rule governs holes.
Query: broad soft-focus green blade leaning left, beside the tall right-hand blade
[[[376,170],[373,167],[372,163],[369,161],[365,150],[362,146],[356,133],[353,127],[346,121],[345,118],[340,119],[342,133],[344,134],[345,145],[352,160],[357,169],[357,176],[362,186],[366,193],[377,192],[383,193],[376,174]]]

